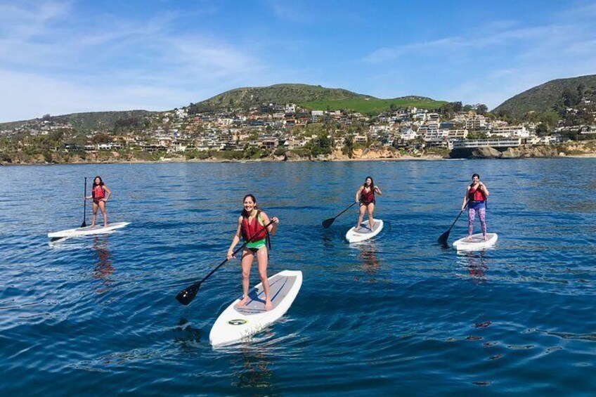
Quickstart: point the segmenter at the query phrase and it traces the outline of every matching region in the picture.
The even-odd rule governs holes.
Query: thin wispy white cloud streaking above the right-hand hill
[[[596,13],[596,6],[583,12]],[[595,73],[596,30],[592,18],[570,11],[544,25],[491,23],[456,36],[378,48],[363,58],[375,67],[403,62],[443,67],[438,73],[453,84],[437,86],[438,98],[493,108],[551,79]]]

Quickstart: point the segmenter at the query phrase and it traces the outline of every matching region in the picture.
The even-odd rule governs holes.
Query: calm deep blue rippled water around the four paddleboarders
[[[499,241],[462,255],[436,238],[473,172]],[[131,225],[50,245],[96,174]],[[369,174],[385,228],[350,246],[355,210],[320,222]],[[269,274],[304,284],[283,320],[214,350],[238,261],[174,297],[225,258],[250,192],[280,218]],[[593,395],[595,193],[590,159],[1,167],[1,394]],[[465,233],[462,216],[450,242]]]

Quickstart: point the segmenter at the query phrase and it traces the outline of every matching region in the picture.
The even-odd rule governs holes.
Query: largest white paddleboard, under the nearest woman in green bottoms
[[[232,344],[245,340],[278,320],[287,311],[302,286],[302,271],[281,271],[269,279],[273,308],[265,310],[265,292],[259,283],[248,293],[245,306],[237,308],[236,299],[219,315],[209,332],[212,346]]]

